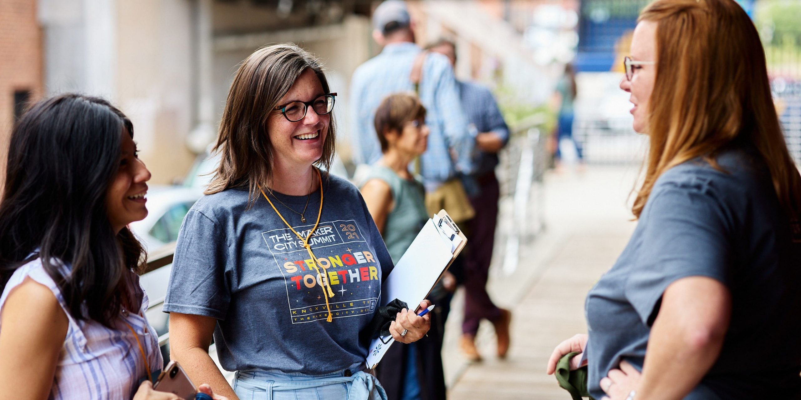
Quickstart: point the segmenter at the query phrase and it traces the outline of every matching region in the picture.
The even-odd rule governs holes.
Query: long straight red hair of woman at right
[[[799,218],[801,178],[787,151],[759,34],[732,0],[657,0],[639,21],[657,22],[657,73],[650,101],[650,150],[632,212],[639,218],[666,170],[714,156],[738,138],[771,172],[787,217]]]

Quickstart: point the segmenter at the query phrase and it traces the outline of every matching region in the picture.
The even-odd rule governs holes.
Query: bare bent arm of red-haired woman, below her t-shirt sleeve
[[[670,285],[651,328],[636,400],[680,399],[717,360],[731,316],[731,295],[710,278]]]

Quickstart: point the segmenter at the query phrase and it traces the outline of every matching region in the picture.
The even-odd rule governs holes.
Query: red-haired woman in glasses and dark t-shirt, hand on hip
[[[801,177],[762,42],[733,0],[658,0],[620,87],[648,134],[639,219],[590,290],[579,353],[594,398],[801,398]]]

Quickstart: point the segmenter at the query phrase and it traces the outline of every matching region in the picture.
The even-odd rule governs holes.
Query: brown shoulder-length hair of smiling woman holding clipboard
[[[320,78],[325,93],[331,90],[322,63],[292,43],[264,46],[239,66],[219,122],[214,151],[221,158],[206,194],[234,187],[248,187],[250,201],[257,188],[272,176],[272,143],[267,131],[269,114],[296,79],[307,69]],[[316,165],[329,170],[336,146],[336,123],[333,113],[323,143],[323,155]]]

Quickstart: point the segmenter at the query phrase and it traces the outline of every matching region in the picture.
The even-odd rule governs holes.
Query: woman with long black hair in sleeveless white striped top
[[[143,249],[126,227],[147,216],[151,174],[133,132],[105,100],[65,94],[39,102],[11,135],[0,399],[178,399],[151,385],[163,362],[134,272]]]

